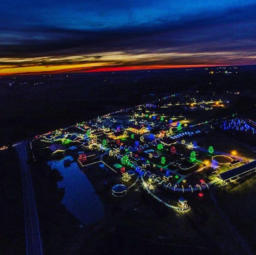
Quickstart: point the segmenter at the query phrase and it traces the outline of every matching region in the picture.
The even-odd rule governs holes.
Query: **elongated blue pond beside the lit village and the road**
[[[63,176],[63,180],[58,182],[58,188],[65,188],[61,203],[82,224],[88,226],[104,216],[105,206],[76,162],[71,163],[70,166],[64,166],[66,159],[73,161],[71,156],[66,156],[60,161],[51,161],[51,168],[56,168]]]

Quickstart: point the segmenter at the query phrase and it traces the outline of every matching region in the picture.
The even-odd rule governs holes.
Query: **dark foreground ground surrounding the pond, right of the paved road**
[[[80,227],[60,204],[65,190],[57,188],[59,172],[46,163],[31,167],[44,254],[244,254],[209,195],[189,201],[186,213],[168,209],[139,183],[115,198],[111,185],[102,183],[100,167],[91,167],[85,174],[105,204],[105,216]],[[104,178],[116,179],[113,173]]]

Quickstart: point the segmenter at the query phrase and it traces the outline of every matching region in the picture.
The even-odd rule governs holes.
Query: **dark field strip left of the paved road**
[[[26,241],[21,169],[15,149],[0,151],[0,180],[0,254],[24,254]]]

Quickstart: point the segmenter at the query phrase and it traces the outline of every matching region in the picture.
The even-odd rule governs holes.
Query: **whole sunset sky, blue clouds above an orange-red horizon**
[[[1,1],[0,74],[256,63],[255,1]]]

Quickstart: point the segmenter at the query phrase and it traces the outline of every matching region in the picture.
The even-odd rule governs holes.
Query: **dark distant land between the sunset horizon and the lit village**
[[[155,99],[186,90],[208,95],[241,91],[235,110],[254,115],[256,66],[230,69],[232,74],[216,68],[0,77],[0,144],[151,102],[151,93]]]

